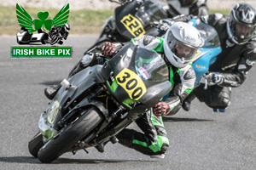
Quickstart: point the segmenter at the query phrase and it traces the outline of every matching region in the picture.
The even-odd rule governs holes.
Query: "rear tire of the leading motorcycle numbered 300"
[[[38,150],[44,145],[43,143],[43,135],[38,132],[29,142],[28,142],[28,150],[30,154],[34,157],[38,157]]]

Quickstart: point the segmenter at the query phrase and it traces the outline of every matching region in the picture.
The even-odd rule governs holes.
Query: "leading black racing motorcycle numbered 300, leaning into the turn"
[[[118,142],[117,133],[169,92],[168,72],[160,54],[130,42],[104,65],[64,79],[39,118],[30,153],[49,163],[66,152],[102,151],[108,141]]]

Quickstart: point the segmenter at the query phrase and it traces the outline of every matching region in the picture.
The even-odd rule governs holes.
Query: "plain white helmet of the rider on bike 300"
[[[164,52],[168,63],[183,68],[203,45],[200,32],[188,23],[176,22],[166,31]]]

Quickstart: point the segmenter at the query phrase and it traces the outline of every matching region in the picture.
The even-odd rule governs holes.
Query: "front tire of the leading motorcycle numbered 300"
[[[102,113],[96,107],[83,111],[76,122],[68,125],[55,139],[50,139],[44,144],[38,151],[39,161],[43,163],[54,161],[90,133],[91,130],[102,122],[102,119]]]

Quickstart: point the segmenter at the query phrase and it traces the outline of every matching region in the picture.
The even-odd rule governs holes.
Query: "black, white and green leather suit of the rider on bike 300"
[[[141,48],[148,48],[161,55],[164,54],[164,40],[160,37],[144,35],[131,41]],[[189,95],[194,87],[195,71],[191,65],[180,69],[171,66],[169,71],[172,91],[166,95],[164,101],[172,109],[169,114],[173,115],[179,110],[181,101]],[[143,133],[125,128],[117,135],[119,143],[149,156],[165,154],[169,146],[169,140],[166,138],[166,129],[161,116],[157,117],[152,112],[147,112],[137,119],[136,123]]]

